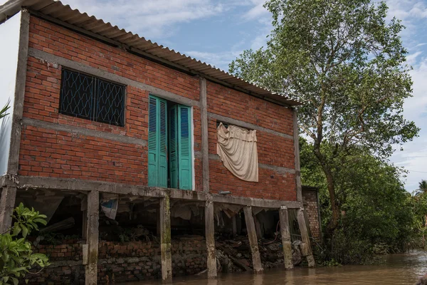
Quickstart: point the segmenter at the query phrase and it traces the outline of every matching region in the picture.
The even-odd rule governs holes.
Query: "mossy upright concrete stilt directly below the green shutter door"
[[[169,196],[160,199],[160,249],[162,251],[162,280],[172,283],[171,207]]]

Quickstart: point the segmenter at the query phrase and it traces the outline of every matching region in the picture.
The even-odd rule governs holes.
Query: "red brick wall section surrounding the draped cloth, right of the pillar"
[[[293,136],[292,111],[245,93],[207,84],[208,112],[235,120],[259,125],[269,130]],[[295,169],[293,140],[280,135],[256,131],[258,162],[264,165]],[[209,120],[209,153],[216,154],[216,120]],[[233,176],[222,162],[209,162],[210,190],[230,190],[234,196],[295,201],[295,175],[280,174],[274,170],[259,168],[259,182],[246,182]]]

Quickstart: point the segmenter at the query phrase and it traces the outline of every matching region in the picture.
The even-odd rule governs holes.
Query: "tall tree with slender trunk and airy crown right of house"
[[[412,91],[404,26],[386,23],[386,4],[370,0],[270,0],[265,7],[273,14],[267,46],[244,51],[229,69],[302,101],[298,123],[326,177],[333,234],[342,207],[335,177],[348,167],[347,153],[357,146],[386,158],[418,134],[402,114]]]

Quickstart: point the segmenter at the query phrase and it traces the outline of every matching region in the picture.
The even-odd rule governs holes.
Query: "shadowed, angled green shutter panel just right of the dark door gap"
[[[172,188],[178,188],[178,116],[176,110],[176,105],[169,110],[169,171]]]

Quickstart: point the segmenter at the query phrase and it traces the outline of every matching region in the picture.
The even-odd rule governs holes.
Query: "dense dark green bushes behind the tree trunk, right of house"
[[[303,184],[320,188],[325,228],[332,214],[327,180],[312,147],[300,138],[301,178]],[[337,167],[335,182],[342,215],[325,240],[325,251],[317,253],[320,263],[366,264],[379,254],[404,251],[414,237],[415,217],[411,195],[399,179],[401,170],[357,147],[339,161],[344,167]]]

